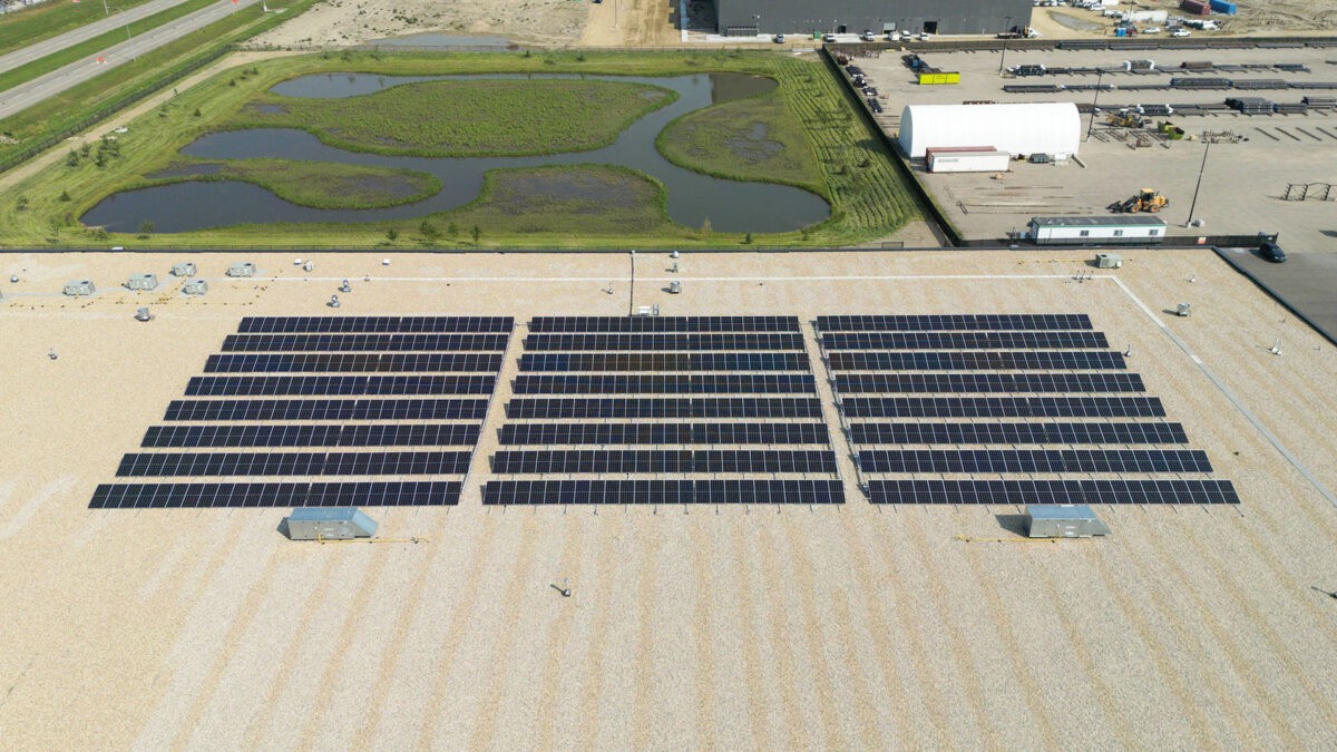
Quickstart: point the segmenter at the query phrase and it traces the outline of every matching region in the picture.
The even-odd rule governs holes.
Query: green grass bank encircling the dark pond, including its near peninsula
[[[160,112],[138,119],[122,136],[120,157],[106,167],[53,166],[0,195],[0,245],[43,244],[52,222],[68,227],[62,242],[95,242],[76,218],[103,197],[142,185],[143,175],[171,163],[176,151],[195,138],[238,122],[249,103],[263,99],[273,84],[317,72],[433,75],[480,72],[587,72],[604,75],[686,75],[745,72],[766,75],[778,88],[755,102],[715,106],[683,118],[668,143],[686,145],[675,162],[689,169],[726,177],[763,175],[775,182],[808,186],[832,206],[830,218],[801,231],[757,234],[757,245],[830,246],[884,238],[921,215],[917,199],[902,182],[892,155],[872,127],[856,115],[840,82],[818,62],[773,52],[583,52],[583,54],[360,54],[308,55],[255,63],[251,75],[238,68],[190,91],[182,91]],[[393,91],[393,90],[392,90]],[[199,111],[199,116],[194,112]],[[247,115],[249,118],[250,115]],[[762,123],[763,132],[755,124]],[[691,126],[686,138],[681,126]],[[715,135],[711,135],[715,134]],[[758,135],[761,134],[761,135]],[[730,159],[719,161],[722,138]],[[517,139],[519,140],[519,139]],[[520,140],[512,147],[519,149]],[[695,147],[693,145],[695,143]],[[774,145],[779,145],[777,150]],[[694,153],[693,149],[697,151]],[[767,165],[769,163],[769,165]],[[775,169],[774,174],[769,170]],[[555,170],[555,171],[554,171]],[[753,173],[749,173],[753,170]],[[616,181],[614,181],[616,178]],[[612,181],[612,182],[610,182]],[[580,186],[615,185],[619,195],[635,201],[590,201]],[[306,245],[329,248],[473,246],[469,231],[481,230],[483,248],[701,248],[737,246],[737,233],[710,233],[668,221],[662,186],[646,175],[610,167],[513,170],[489,174],[484,194],[452,211],[398,222],[350,225],[265,225],[178,234],[148,240],[111,236],[111,245],[205,248],[229,245]],[[60,201],[62,193],[70,199]],[[24,201],[20,202],[19,198]],[[520,211],[519,209],[524,209]],[[424,238],[421,222],[440,233]],[[455,223],[456,237],[445,233]],[[83,238],[83,240],[76,240]],[[104,242],[96,238],[100,245]]]

